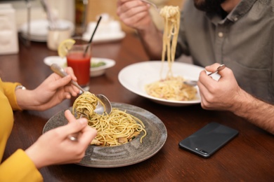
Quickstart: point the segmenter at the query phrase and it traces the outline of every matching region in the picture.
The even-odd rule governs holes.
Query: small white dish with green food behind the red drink
[[[98,66],[90,69],[91,77],[103,75],[108,68],[115,66],[116,64],[115,60],[100,57],[91,57],[91,62],[105,62],[105,65],[103,66]],[[61,67],[65,67],[67,66],[67,59],[65,57],[61,58],[59,56],[48,56],[44,58],[44,64],[51,66],[51,64],[53,63],[56,63]]]

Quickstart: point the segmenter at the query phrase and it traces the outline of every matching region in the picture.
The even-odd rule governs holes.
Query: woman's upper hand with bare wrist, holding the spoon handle
[[[52,73],[34,90],[16,90],[16,98],[21,109],[44,111],[59,104],[64,99],[76,97],[79,89],[70,83],[77,81],[71,67],[65,69],[68,76],[61,78]]]

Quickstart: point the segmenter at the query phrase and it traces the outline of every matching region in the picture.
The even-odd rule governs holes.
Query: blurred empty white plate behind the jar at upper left
[[[67,20],[58,20],[57,22],[59,27],[69,27],[74,33],[74,25],[72,22]],[[20,32],[22,37],[27,38],[27,22],[20,27]],[[38,42],[46,42],[48,36],[48,20],[32,20],[30,22],[30,40]]]

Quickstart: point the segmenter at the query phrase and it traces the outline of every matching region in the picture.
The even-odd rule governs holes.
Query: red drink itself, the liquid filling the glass
[[[67,66],[72,67],[79,85],[89,85],[91,55],[86,54],[84,57],[83,52],[71,52],[67,54]]]

